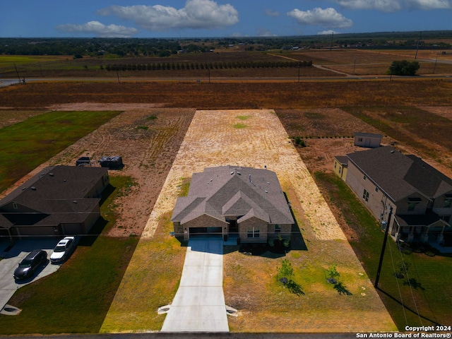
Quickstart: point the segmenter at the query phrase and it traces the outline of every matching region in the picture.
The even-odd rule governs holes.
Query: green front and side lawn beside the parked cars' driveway
[[[124,275],[138,237],[96,236],[115,222],[114,197],[124,194],[129,177],[111,177],[102,218],[91,235],[54,274],[21,287],[10,304],[18,316],[0,315],[0,334],[97,333]]]

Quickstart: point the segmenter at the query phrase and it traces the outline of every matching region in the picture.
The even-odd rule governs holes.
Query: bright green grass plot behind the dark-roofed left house
[[[0,192],[119,113],[48,112],[0,129]]]

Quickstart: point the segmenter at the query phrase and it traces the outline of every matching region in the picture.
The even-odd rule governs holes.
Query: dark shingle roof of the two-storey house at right
[[[452,179],[419,157],[403,155],[391,146],[350,153],[347,157],[393,201],[415,192],[436,198],[452,190]]]

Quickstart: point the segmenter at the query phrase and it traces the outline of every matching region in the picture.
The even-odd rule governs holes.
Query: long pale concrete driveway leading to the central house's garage
[[[229,332],[223,294],[223,240],[189,240],[181,283],[162,332]]]

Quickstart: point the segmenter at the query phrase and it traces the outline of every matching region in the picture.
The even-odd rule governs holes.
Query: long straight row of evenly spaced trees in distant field
[[[268,69],[310,67],[312,61],[218,61],[218,62],[156,62],[152,64],[107,64],[107,71],[156,71],[180,69]]]

